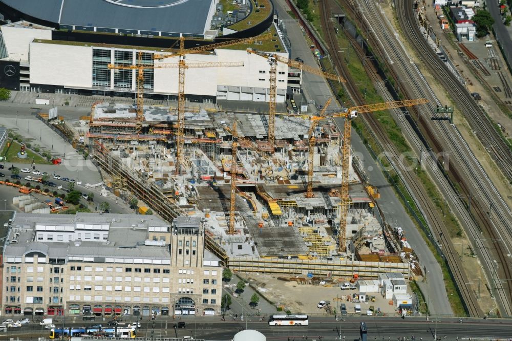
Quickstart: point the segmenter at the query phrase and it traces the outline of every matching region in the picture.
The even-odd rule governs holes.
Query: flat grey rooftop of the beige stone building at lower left
[[[142,217],[142,218],[141,218]],[[21,257],[30,252],[40,252],[50,258],[70,260],[83,257],[129,257],[140,259],[169,259],[167,246],[147,246],[147,230],[150,226],[169,226],[156,216],[77,213],[76,215],[44,215],[18,213],[12,223],[5,246],[5,257]],[[38,233],[98,232],[108,238],[69,241],[38,241]],[[47,232],[48,233],[48,232]],[[13,239],[16,242],[13,242]],[[99,237],[98,237],[99,238]],[[68,240],[63,239],[63,240]]]

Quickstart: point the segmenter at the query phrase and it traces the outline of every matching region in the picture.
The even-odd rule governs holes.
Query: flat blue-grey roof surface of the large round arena
[[[204,34],[214,0],[0,0],[59,25]]]

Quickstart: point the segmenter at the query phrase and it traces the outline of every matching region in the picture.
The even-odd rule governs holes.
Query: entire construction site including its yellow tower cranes
[[[210,48],[188,51],[182,44],[169,56]],[[136,197],[164,219],[204,219],[206,247],[225,264],[243,258],[351,261],[352,267],[357,261],[383,262],[389,263],[389,270],[407,274],[411,260],[401,252],[403,245],[374,216],[378,190],[361,181],[364,171],[350,155],[351,120],[360,113],[425,101],[370,104],[340,112],[329,112],[328,101],[316,116],[293,110],[278,113],[278,62],[287,63],[292,71],[344,79],[279,55],[250,49],[248,53],[267,58],[269,65],[268,112],[263,114],[188,109],[184,58],[178,65],[177,108],[144,106],[143,73],[154,65],[144,65],[140,58],[137,65],[109,65],[138,70],[138,94],[133,105],[93,105],[88,145],[105,183],[116,195],[125,200]],[[335,124],[338,117],[344,119],[343,127]],[[342,272],[353,271],[357,270]]]

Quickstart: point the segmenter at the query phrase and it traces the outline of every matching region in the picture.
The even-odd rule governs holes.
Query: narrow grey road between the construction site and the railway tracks
[[[279,13],[280,19],[286,20],[286,26],[288,28],[288,37],[290,38],[291,44],[294,48],[292,51],[292,58],[298,56],[304,59],[307,65],[315,65],[315,58],[311,54],[311,51],[307,45],[307,42],[300,30],[298,24],[293,23],[292,18],[286,13],[286,4],[284,0],[278,0],[274,2],[275,8]],[[325,102],[329,96],[334,97],[331,90],[324,79],[313,74],[304,73],[305,81],[305,93],[309,93],[308,97],[315,99],[315,102]],[[328,95],[327,95],[328,94]],[[333,104],[335,106],[335,104]],[[336,122],[338,126],[343,126],[343,121],[338,119]],[[408,240],[413,245],[415,252],[417,253],[421,265],[427,268],[428,271],[428,283],[420,282],[420,288],[425,295],[425,300],[430,302],[430,310],[432,314],[439,315],[451,315],[452,309],[450,304],[445,300],[446,289],[442,280],[441,267],[434,258],[429,247],[425,244],[419,231],[414,228],[414,223],[407,214],[406,210],[400,204],[395,191],[382,175],[381,169],[375,163],[375,160],[370,156],[366,146],[362,143],[359,135],[352,131],[351,134],[352,142],[352,154],[357,156],[364,165],[365,171],[367,172],[370,183],[377,186],[380,191],[380,200],[378,202],[379,207],[385,213],[385,216],[390,218],[390,223],[395,226],[401,226],[406,231]]]

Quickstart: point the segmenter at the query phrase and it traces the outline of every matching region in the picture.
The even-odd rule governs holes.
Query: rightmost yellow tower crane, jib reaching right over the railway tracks
[[[350,158],[350,130],[352,127],[352,118],[357,117],[358,114],[371,113],[375,111],[402,108],[403,106],[413,106],[418,104],[427,103],[428,100],[421,99],[410,99],[403,101],[383,102],[376,104],[366,104],[360,106],[353,106],[343,112],[330,113],[327,115],[311,116],[311,120],[319,121],[325,119],[331,119],[335,117],[344,117],[345,126],[343,132],[343,152],[342,152],[342,190],[340,193],[340,215],[339,215],[339,251],[344,252],[346,250],[345,245],[345,230],[347,227],[347,215],[348,209],[351,204],[349,197],[349,158]],[[312,124],[313,125],[313,124]],[[309,179],[308,179],[309,180]],[[308,182],[309,186],[309,182]]]

